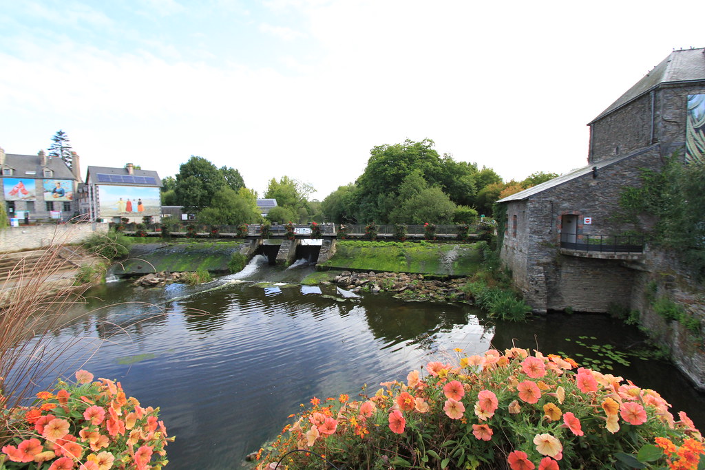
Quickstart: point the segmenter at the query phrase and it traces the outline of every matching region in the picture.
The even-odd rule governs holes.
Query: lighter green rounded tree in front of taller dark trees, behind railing
[[[198,213],[198,221],[212,225],[239,225],[258,221],[257,197],[243,187],[235,192],[223,185],[208,207]]]

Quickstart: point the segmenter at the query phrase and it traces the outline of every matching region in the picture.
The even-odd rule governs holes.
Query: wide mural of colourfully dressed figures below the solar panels
[[[99,186],[101,217],[159,216],[158,187]]]

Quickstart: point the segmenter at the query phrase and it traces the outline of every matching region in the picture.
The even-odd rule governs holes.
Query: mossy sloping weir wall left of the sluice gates
[[[133,245],[128,259],[114,264],[110,272],[116,276],[131,274],[194,272],[227,272],[233,253],[243,242],[149,243]]]

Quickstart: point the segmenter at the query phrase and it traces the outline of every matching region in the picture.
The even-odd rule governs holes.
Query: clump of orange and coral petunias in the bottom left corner
[[[13,438],[2,447],[0,468],[166,465],[164,448],[173,438],[167,437],[164,421],[159,421],[159,408],[142,408],[135,398],[125,397],[119,382],[106,378],[92,382],[87,371],[78,371],[76,378],[75,384],[58,381],[53,390],[37,393],[32,406],[16,409],[9,421]]]

